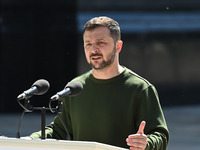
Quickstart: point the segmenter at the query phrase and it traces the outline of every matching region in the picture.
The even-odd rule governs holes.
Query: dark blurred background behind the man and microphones
[[[82,29],[95,16],[119,22],[121,65],[156,86],[169,149],[200,149],[199,0],[0,0],[0,133],[15,136],[23,111],[16,97],[36,80],[46,79],[50,89],[31,103],[47,107],[52,95],[90,69]],[[37,129],[26,124],[22,134]]]

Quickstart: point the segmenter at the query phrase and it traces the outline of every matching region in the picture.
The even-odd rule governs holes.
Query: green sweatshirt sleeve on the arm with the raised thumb
[[[169,141],[169,131],[154,86],[141,91],[138,98],[136,125],[146,121],[144,133],[147,135],[145,150],[166,150]]]

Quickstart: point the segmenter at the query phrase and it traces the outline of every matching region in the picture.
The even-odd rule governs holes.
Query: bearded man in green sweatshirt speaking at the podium
[[[83,91],[63,100],[61,118],[72,140],[96,141],[134,150],[165,150],[169,132],[155,87],[119,64],[119,24],[95,17],[84,26],[85,56],[92,69],[75,78]],[[46,137],[66,139],[59,117]],[[31,138],[40,138],[40,132]]]

